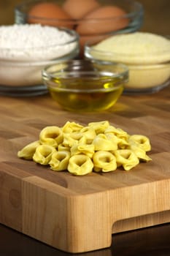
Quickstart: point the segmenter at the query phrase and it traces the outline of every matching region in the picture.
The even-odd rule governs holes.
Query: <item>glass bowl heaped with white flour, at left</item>
[[[39,24],[0,26],[0,94],[45,94],[42,69],[78,55],[79,36],[71,29]]]

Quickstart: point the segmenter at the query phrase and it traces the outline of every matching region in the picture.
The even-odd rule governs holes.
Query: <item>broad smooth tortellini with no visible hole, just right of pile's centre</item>
[[[117,140],[111,140],[104,134],[96,135],[92,144],[95,147],[95,151],[115,151],[117,149]]]

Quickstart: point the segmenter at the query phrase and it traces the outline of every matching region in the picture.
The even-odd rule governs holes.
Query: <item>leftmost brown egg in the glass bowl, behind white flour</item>
[[[64,21],[63,19],[69,20],[71,17],[61,7],[52,2],[35,4],[28,12],[28,23],[41,23],[42,25],[49,26],[65,26],[72,29],[72,24],[68,21]]]

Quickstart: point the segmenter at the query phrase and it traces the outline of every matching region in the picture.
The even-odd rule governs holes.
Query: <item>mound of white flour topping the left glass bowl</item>
[[[0,26],[0,59],[39,61],[71,52],[74,37],[65,31],[39,24]]]

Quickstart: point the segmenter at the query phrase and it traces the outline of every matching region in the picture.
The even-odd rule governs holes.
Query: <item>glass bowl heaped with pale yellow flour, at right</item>
[[[126,64],[129,80],[124,92],[128,94],[154,93],[170,83],[169,37],[140,31],[119,34],[97,44],[88,42],[85,57]]]

